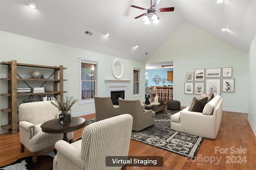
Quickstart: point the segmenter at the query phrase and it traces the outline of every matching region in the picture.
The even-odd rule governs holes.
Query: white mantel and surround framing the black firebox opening
[[[105,80],[106,97],[111,96],[112,91],[124,90],[124,99],[129,99],[129,83],[131,80]]]

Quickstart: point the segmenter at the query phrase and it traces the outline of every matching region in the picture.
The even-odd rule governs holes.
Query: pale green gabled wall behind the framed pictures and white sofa
[[[228,34],[228,32],[224,33]],[[198,68],[232,67],[235,89],[234,93],[220,92],[224,98],[223,109],[248,113],[248,54],[184,22],[146,63],[164,61],[174,63],[174,100],[179,100],[182,106],[190,106],[192,98],[199,97],[195,94],[184,94],[187,72],[194,72],[194,69]]]

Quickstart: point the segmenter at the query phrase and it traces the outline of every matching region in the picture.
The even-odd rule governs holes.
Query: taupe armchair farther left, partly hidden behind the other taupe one
[[[119,106],[113,105],[110,97],[94,96],[94,104],[97,121],[120,115]]]

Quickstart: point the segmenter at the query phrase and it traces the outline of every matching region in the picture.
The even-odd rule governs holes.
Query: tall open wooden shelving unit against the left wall
[[[8,65],[8,78],[1,78],[0,80],[7,80],[8,81],[8,93],[1,94],[1,96],[8,97],[8,108],[1,109],[2,112],[8,113],[8,124],[1,125],[2,129],[11,129],[12,135],[17,134],[17,98],[18,96],[29,96],[35,94],[53,94],[55,97],[60,95],[60,98],[63,98],[63,81],[67,81],[63,79],[63,69],[67,69],[60,66],[44,66],[44,65],[37,65],[37,64],[22,64],[17,63],[16,60],[8,61],[8,62],[1,62],[0,64]],[[40,78],[17,78],[17,67],[18,66],[25,66],[25,67],[37,67],[37,68],[52,68],[54,70],[54,79],[40,79]],[[59,74],[59,78],[58,78]],[[17,83],[19,81],[53,81],[54,82],[54,92],[44,92],[44,93],[17,93]],[[57,91],[59,89],[59,91]]]

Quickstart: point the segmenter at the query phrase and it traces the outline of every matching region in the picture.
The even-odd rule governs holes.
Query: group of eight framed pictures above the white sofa
[[[194,72],[186,73],[184,83],[185,94],[234,92],[235,79],[232,77],[232,67],[224,68],[200,68]],[[222,78],[222,86],[221,86]]]

